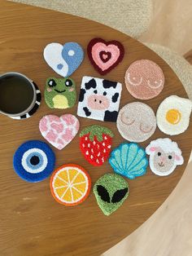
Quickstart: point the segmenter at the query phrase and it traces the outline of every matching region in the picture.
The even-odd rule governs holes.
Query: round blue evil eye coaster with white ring
[[[21,179],[35,183],[46,179],[55,168],[55,153],[40,140],[29,140],[17,148],[13,166]]]

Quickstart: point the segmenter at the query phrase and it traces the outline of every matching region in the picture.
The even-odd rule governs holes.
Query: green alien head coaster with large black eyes
[[[110,215],[129,195],[129,185],[119,174],[104,174],[94,184],[94,196],[103,214]]]

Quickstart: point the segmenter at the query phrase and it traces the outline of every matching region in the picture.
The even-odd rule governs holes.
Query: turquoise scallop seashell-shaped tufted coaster
[[[137,143],[122,143],[111,152],[109,163],[113,170],[129,179],[146,174],[148,160],[145,150]]]

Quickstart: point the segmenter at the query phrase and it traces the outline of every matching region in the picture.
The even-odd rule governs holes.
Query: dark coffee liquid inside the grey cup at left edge
[[[8,114],[22,113],[33,102],[33,86],[17,74],[0,77],[0,110]]]

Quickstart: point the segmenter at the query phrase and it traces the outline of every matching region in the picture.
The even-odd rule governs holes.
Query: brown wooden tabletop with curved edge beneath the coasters
[[[48,11],[36,7],[0,1],[0,71],[17,71],[31,77],[44,89],[46,77],[56,76],[42,57],[42,51],[50,42],[79,42],[84,49],[91,38],[118,39],[124,44],[125,56],[119,66],[108,73],[108,79],[124,84],[126,68],[134,60],[154,60],[164,70],[166,78],[163,93],[147,101],[155,111],[168,95],[186,97],[181,82],[172,69],[155,52],[133,38],[110,29],[103,24],[72,15]],[[72,75],[79,90],[83,75],[100,77],[89,64],[87,55],[81,67]],[[123,88],[120,107],[135,99]],[[50,195],[49,179],[41,183],[25,183],[15,174],[12,156],[15,149],[28,139],[41,139],[38,122],[45,114],[61,115],[63,111],[47,108],[44,100],[37,113],[25,121],[13,121],[0,117],[0,254],[28,255],[98,255],[128,236],[155,212],[175,188],[189,159],[192,126],[183,134],[172,136],[179,143],[185,158],[183,166],[168,177],[158,177],[150,170],[143,177],[129,180],[129,200],[106,217],[96,204],[93,192],[76,207],[64,207]],[[76,114],[76,107],[68,113]],[[90,123],[101,123],[80,118],[81,129]],[[102,124],[102,123],[101,123]],[[113,147],[123,142],[116,124],[105,123],[116,134]],[[151,139],[165,137],[158,129]],[[149,143],[141,143],[143,147]],[[62,151],[54,148],[56,166],[74,162],[89,171],[94,183],[102,174],[111,172],[105,163],[102,167],[90,166],[78,148],[78,136]]]

